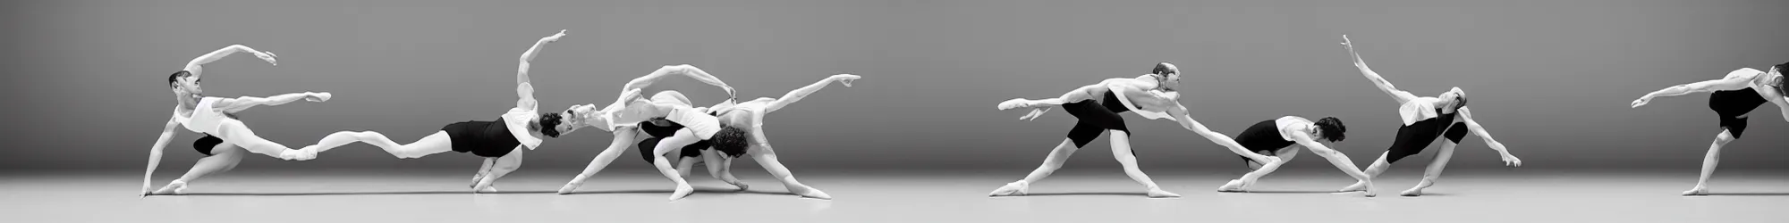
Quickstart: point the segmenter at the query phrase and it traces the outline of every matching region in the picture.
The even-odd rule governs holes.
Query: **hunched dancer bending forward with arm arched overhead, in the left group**
[[[658,145],[655,145],[653,153],[666,153],[674,148],[683,148],[698,143],[714,143],[714,145],[744,148],[746,141],[744,130],[719,123],[705,109],[691,107],[687,98],[683,98],[683,102],[640,98],[642,89],[646,89],[658,78],[669,75],[685,75],[712,86],[719,86],[721,89],[726,89],[728,100],[733,98],[732,96],[733,87],[726,86],[726,82],[714,78],[714,75],[708,75],[707,71],[696,66],[680,64],[680,66],[664,66],[646,77],[630,80],[628,84],[623,86],[621,98],[615,98],[615,102],[610,103],[608,107],[596,109],[596,105],[589,103],[572,105],[571,109],[565,111],[569,116],[572,116],[574,120],[572,123],[576,123],[578,127],[598,127],[608,130],[614,134],[614,139],[610,141],[608,148],[598,153],[596,159],[592,159],[590,164],[585,166],[581,173],[578,173],[576,177],[572,177],[571,182],[560,187],[558,191],[560,194],[569,194],[576,191],[580,186],[583,186],[587,178],[590,178],[590,175],[603,171],[603,168],[606,168],[612,161],[615,161],[615,157],[619,157],[621,152],[626,152],[628,143],[632,143],[635,136],[639,136],[640,132],[648,132],[660,139]],[[674,123],[674,127],[651,128],[651,130],[639,127],[640,121],[655,121],[655,120],[664,125]],[[689,182],[678,177],[676,169],[671,168],[669,162],[653,162],[653,166],[660,173],[664,173],[666,178],[671,178],[671,182],[676,184],[676,189],[671,193],[669,200],[680,200],[696,191],[694,187],[689,186]]]

